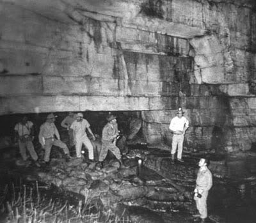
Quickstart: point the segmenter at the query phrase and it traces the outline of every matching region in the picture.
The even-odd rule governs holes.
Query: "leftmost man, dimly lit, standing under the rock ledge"
[[[33,139],[35,130],[34,125],[31,121],[28,121],[28,118],[24,116],[22,120],[15,125],[15,137],[18,139],[19,142],[19,150],[20,155],[22,159],[26,162],[28,159],[27,151],[29,151],[29,154],[31,155],[31,158],[35,161],[36,166],[40,167],[40,164],[38,164],[38,156],[35,152],[35,148],[33,145]]]

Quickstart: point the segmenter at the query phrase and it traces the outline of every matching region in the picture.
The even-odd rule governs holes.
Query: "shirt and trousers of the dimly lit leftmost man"
[[[14,128],[14,130],[19,134],[19,150],[24,161],[28,159],[27,150],[29,151],[29,154],[33,160],[36,161],[38,159],[30,136],[32,127],[33,123],[31,121],[27,121],[25,125],[22,123],[17,123]]]

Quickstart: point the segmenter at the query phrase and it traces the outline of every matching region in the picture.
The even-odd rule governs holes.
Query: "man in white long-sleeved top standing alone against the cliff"
[[[182,160],[182,150],[183,141],[186,130],[189,127],[189,121],[183,116],[184,112],[181,108],[177,111],[177,116],[175,116],[170,123],[170,130],[173,132],[172,138],[172,161],[174,160],[174,154],[176,153],[178,146],[177,158],[179,162],[184,162]]]

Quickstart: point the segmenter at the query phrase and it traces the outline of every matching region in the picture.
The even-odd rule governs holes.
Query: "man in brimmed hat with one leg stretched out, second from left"
[[[54,124],[56,117],[57,116],[54,116],[54,114],[52,113],[49,114],[46,118],[45,123],[41,125],[38,135],[39,142],[42,145],[42,148],[44,148],[45,150],[45,162],[50,161],[51,148],[53,145],[60,147],[65,153],[66,160],[70,160],[68,147],[64,142],[60,140],[60,134]]]

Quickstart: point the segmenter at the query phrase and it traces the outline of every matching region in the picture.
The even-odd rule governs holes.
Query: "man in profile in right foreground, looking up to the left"
[[[205,158],[201,158],[198,165],[200,169],[197,173],[194,199],[199,215],[194,215],[194,217],[200,217],[201,223],[204,223],[207,218],[207,196],[212,187],[212,174]]]

